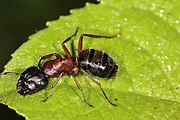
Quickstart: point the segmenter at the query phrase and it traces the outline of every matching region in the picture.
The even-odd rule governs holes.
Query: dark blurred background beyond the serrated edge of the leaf
[[[69,10],[81,8],[96,0],[1,0],[0,1],[0,73],[11,54],[28,36],[46,28],[46,22],[68,15]],[[15,85],[16,86],[16,85]],[[23,120],[22,116],[0,104],[1,120]]]

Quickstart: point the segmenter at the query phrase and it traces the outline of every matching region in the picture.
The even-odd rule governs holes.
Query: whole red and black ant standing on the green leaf
[[[43,100],[43,102],[45,102],[49,98],[52,90],[59,82],[60,78],[63,75],[69,73],[73,77],[74,82],[81,91],[85,103],[90,107],[93,107],[93,105],[87,102],[83,90],[76,79],[77,74],[84,73],[100,87],[107,101],[111,105],[117,106],[108,99],[100,82],[95,78],[91,77],[88,74],[88,72],[91,73],[92,75],[101,78],[112,78],[117,73],[118,66],[108,54],[100,50],[95,50],[95,49],[82,50],[82,42],[84,36],[91,38],[113,38],[116,37],[117,35],[100,36],[93,34],[81,34],[78,42],[78,57],[72,57],[71,53],[66,48],[65,43],[70,41],[72,37],[76,36],[77,32],[78,32],[78,28],[72,36],[65,39],[61,44],[65,54],[67,55],[66,58],[62,58],[61,55],[59,55],[58,53],[48,54],[40,58],[38,67],[31,66],[21,74],[16,72],[5,72],[5,73],[1,73],[0,75],[11,75],[11,74],[19,75],[20,78],[18,79],[18,83],[17,83],[17,91],[21,95],[36,93],[47,86],[48,78],[57,77],[56,81],[51,86],[51,89],[47,97]],[[45,63],[43,63],[43,65],[41,65],[42,60],[49,59],[53,56],[55,56],[56,59],[46,61]]]

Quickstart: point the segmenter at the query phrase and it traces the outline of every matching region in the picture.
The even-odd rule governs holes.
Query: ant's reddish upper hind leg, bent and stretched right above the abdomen
[[[93,34],[81,34],[79,37],[79,42],[78,42],[78,55],[82,51],[82,42],[83,42],[83,37],[91,37],[91,38],[114,38],[117,37],[117,35],[114,36],[101,36],[101,35],[93,35]]]

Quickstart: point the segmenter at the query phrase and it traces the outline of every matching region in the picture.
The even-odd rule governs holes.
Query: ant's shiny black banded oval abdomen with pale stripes
[[[118,69],[118,66],[108,54],[95,49],[81,51],[79,64],[84,70],[101,78],[113,77]]]

